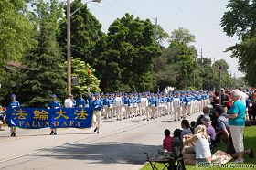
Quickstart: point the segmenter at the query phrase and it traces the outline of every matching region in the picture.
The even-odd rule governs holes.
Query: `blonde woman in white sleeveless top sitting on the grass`
[[[195,129],[195,134],[191,136],[184,136],[186,140],[184,145],[193,143],[195,145],[195,154],[184,155],[184,162],[186,165],[196,165],[197,163],[210,163],[211,152],[208,142],[208,133],[205,125],[198,125]]]

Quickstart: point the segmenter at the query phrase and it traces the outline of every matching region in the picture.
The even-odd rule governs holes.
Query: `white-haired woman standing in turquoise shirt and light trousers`
[[[229,110],[229,114],[224,114],[226,118],[229,118],[229,131],[231,133],[232,141],[236,153],[238,153],[238,159],[236,163],[243,163],[243,132],[244,132],[244,117],[245,117],[245,104],[240,101],[240,90],[231,91],[231,100],[234,101],[233,106]]]

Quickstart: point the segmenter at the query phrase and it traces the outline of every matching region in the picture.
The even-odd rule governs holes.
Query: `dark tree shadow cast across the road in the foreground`
[[[63,146],[42,149],[49,154],[34,154],[39,157],[56,159],[86,160],[89,164],[134,164],[142,165],[146,161],[144,152],[157,154],[161,146],[134,143],[102,143],[102,144],[65,144]]]

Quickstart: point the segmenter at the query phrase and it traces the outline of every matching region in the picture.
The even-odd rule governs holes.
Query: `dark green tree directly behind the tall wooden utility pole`
[[[70,16],[72,57],[81,58],[81,60],[91,64],[95,61],[91,57],[91,50],[95,42],[103,35],[101,32],[101,23],[91,14],[87,5],[81,3],[81,0],[75,0],[71,3],[71,13],[79,7],[80,10]],[[66,51],[66,19],[62,19],[60,23],[59,43],[63,47],[62,50]]]

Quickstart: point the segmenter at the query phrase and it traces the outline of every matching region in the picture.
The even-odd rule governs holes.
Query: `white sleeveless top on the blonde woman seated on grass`
[[[195,143],[196,159],[211,157],[208,139],[202,138],[201,133],[197,133],[195,135],[198,138]]]

